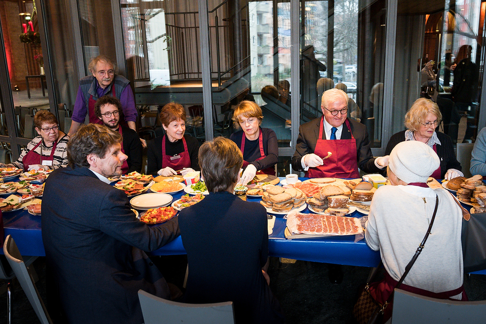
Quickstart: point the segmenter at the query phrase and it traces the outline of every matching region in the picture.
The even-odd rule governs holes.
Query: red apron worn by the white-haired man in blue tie
[[[346,126],[351,133],[349,121],[345,120]],[[358,161],[356,158],[356,140],[351,133],[349,140],[323,140],[324,116],[321,118],[319,127],[319,138],[316,143],[314,154],[324,158],[327,152],[332,155],[324,160],[324,164],[318,167],[310,167],[306,177],[336,177],[336,178],[358,178]],[[339,151],[338,151],[339,150]]]

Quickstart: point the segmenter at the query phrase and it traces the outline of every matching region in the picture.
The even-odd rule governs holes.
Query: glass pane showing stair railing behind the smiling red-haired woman
[[[120,2],[127,74],[142,126],[159,127],[158,109],[174,101],[186,109],[186,133],[203,141],[198,2]]]

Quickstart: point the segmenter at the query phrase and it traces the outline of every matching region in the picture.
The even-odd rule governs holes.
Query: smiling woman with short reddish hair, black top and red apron
[[[160,119],[165,135],[148,144],[147,173],[170,176],[178,170],[182,175],[199,170],[199,142],[185,134],[184,107],[175,102],[168,103],[162,107]]]

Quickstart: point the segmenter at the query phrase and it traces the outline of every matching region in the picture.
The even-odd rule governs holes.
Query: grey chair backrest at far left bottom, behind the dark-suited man
[[[3,254],[8,260],[10,267],[12,268],[15,276],[17,277],[20,286],[22,287],[25,295],[27,296],[30,305],[34,308],[37,318],[42,324],[52,324],[52,321],[47,313],[47,310],[40,298],[39,292],[35,287],[34,280],[30,275],[30,271],[25,266],[22,256],[18,251],[15,241],[10,235],[5,238],[5,243],[3,243]]]

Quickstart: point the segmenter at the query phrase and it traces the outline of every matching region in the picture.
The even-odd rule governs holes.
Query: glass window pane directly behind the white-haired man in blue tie
[[[348,118],[381,147],[385,58],[384,0],[302,3],[300,124],[322,116],[325,90],[349,96]]]

